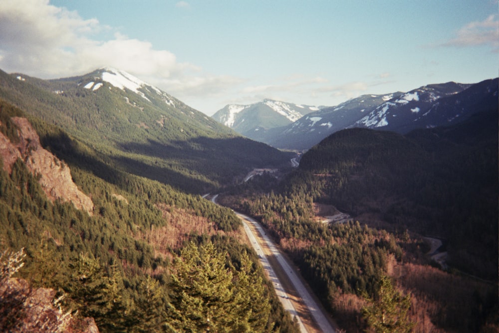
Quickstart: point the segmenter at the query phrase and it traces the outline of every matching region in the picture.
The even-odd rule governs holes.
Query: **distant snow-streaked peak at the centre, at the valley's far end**
[[[249,105],[226,105],[212,118],[246,137],[260,141],[260,131],[291,124],[316,110],[318,108],[315,106],[264,99]]]

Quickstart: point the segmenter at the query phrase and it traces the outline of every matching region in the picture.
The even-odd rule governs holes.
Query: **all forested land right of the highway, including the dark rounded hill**
[[[285,181],[254,179],[220,200],[266,226],[348,332],[375,325],[386,276],[401,294],[385,305],[410,308],[397,332],[497,332],[498,132],[497,106],[406,135],[346,129]],[[340,212],[348,222],[322,222]]]

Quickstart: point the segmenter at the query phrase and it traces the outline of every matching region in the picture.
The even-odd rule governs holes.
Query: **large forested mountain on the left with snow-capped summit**
[[[0,71],[0,97],[66,131],[40,133],[60,158],[79,159],[74,138],[112,168],[190,192],[232,183],[289,157],[117,69],[57,80]]]

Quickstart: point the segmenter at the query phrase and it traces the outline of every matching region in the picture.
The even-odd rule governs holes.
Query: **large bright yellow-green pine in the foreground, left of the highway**
[[[212,243],[191,243],[175,262],[169,316],[179,332],[236,332],[233,274]]]

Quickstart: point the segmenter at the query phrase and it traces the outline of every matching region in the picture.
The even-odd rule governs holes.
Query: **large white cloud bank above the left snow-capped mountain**
[[[111,66],[184,96],[214,94],[241,81],[205,75],[198,66],[178,62],[174,53],[119,32],[107,40],[95,38],[98,32],[110,30],[97,19],[83,19],[48,0],[1,0],[0,68],[54,78]]]

